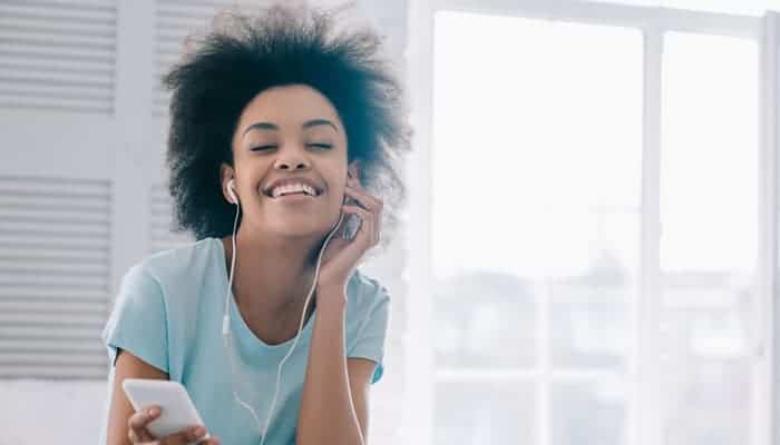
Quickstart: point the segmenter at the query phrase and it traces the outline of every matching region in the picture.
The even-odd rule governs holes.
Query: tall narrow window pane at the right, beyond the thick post
[[[665,37],[661,165],[664,444],[750,437],[758,48]]]

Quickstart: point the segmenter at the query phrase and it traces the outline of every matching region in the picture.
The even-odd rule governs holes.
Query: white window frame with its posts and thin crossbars
[[[780,328],[774,325],[778,307],[778,91],[780,81],[777,52],[778,13],[767,12],[763,18],[715,12],[688,11],[657,7],[635,7],[593,1],[558,0],[410,0],[409,47],[407,49],[408,80],[412,100],[411,122],[415,127],[416,149],[408,159],[409,182],[408,219],[404,227],[407,251],[406,277],[409,285],[407,350],[407,412],[403,421],[406,442],[433,441],[435,383],[443,377],[475,379],[472,372],[440,372],[435,367],[433,345],[430,338],[432,322],[433,268],[431,256],[431,152],[433,125],[433,24],[439,11],[461,11],[501,14],[528,19],[562,20],[599,26],[617,26],[640,30],[644,36],[643,135],[642,135],[642,197],[641,197],[641,260],[640,291],[630,301],[632,323],[637,326],[633,338],[632,356],[626,374],[632,402],[627,408],[628,442],[631,445],[661,445],[661,417],[657,399],[660,385],[656,356],[657,319],[660,314],[660,150],[661,150],[661,82],[663,37],[667,31],[704,33],[753,39],[759,44],[759,227],[758,267],[754,289],[758,304],[753,307],[754,366],[752,368],[751,445],[769,445],[780,437],[780,426],[773,426],[776,400],[780,387],[772,382],[774,357],[780,345],[773,342]],[[546,306],[546,305],[539,305]],[[544,308],[539,328],[545,328]],[[544,338],[544,335],[540,336]],[[546,349],[546,348],[545,348]],[[550,370],[545,366],[547,354],[539,350],[543,362],[537,372],[499,373],[501,380],[548,382]],[[655,364],[657,365],[657,363]],[[576,374],[576,375],[574,375]],[[574,373],[569,378],[593,377],[594,373]],[[589,374],[589,375],[586,375]],[[597,374],[597,373],[596,373]],[[549,444],[549,394],[546,384],[538,385],[536,407],[539,445]]]

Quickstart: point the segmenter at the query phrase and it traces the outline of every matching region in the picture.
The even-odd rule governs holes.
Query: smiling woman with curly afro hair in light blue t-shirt
[[[331,14],[223,18],[165,77],[170,194],[197,241],[123,278],[101,443],[364,444],[389,297],[357,266],[403,198],[400,85],[379,37]],[[159,409],[134,412],[125,378],[181,382],[205,428],[152,436]]]

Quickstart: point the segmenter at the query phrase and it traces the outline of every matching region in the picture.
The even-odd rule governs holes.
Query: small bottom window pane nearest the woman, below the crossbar
[[[534,397],[530,384],[440,383],[436,386],[436,444],[533,444]]]

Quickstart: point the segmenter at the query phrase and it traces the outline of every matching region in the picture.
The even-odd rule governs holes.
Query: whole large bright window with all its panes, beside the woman
[[[432,58],[412,69],[432,86],[432,190],[411,206],[429,211],[430,270],[411,301],[430,283],[433,387],[412,427],[439,444],[768,443],[760,21],[457,9],[429,10]]]

